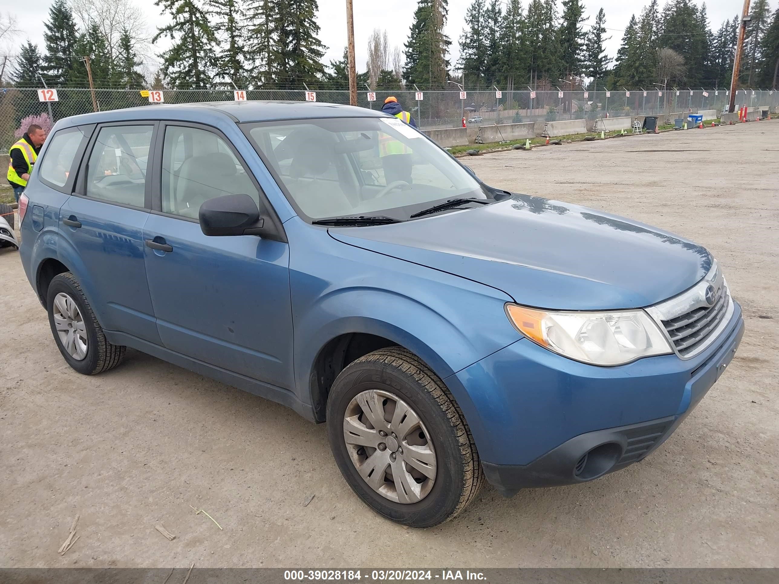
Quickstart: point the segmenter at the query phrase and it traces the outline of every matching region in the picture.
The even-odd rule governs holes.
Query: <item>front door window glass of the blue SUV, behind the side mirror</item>
[[[220,136],[201,128],[169,125],[162,150],[162,210],[196,219],[208,199],[259,192]]]

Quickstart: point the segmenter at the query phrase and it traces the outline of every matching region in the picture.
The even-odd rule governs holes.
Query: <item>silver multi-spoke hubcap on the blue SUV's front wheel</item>
[[[435,482],[435,450],[425,424],[398,396],[358,393],[344,413],[344,441],[368,487],[397,503],[416,503]]]

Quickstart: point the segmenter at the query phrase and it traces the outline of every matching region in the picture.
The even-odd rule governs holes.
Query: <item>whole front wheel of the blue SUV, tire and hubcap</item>
[[[327,401],[327,431],[358,497],[407,526],[452,519],[484,483],[476,445],[449,389],[400,347],[369,353],[340,372]]]

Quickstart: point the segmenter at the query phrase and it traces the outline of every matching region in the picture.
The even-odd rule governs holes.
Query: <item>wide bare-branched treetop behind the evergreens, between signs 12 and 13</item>
[[[73,17],[83,30],[93,23],[103,34],[113,59],[122,30],[127,30],[132,48],[144,60],[149,58],[149,33],[143,11],[132,0],[70,0]]]

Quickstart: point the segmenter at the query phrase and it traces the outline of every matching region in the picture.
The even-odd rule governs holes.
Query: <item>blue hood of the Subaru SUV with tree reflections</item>
[[[712,264],[705,248],[681,237],[529,195],[330,234],[484,283],[520,304],[562,310],[643,308],[693,286]]]

